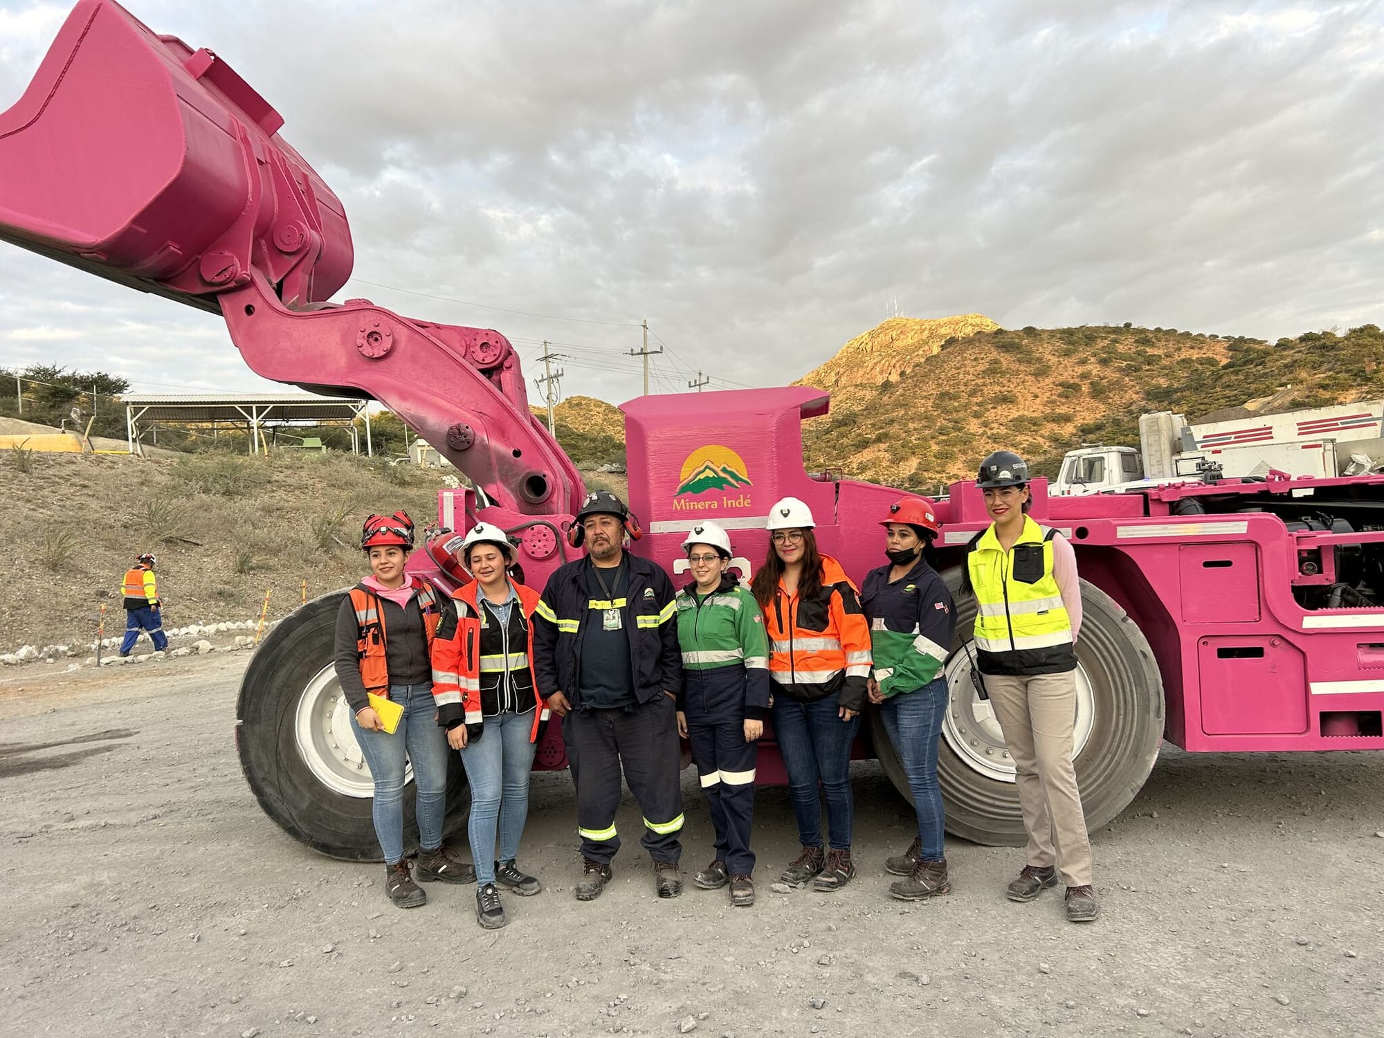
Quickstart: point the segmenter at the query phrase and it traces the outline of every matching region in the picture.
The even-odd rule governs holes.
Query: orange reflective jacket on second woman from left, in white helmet
[[[480,655],[480,584],[472,581],[451,592],[457,605],[455,627],[448,616],[447,623],[432,644],[433,699],[437,700],[437,713],[443,722],[450,714],[457,713],[459,704],[466,724],[483,724],[480,711],[482,670],[519,670],[522,667],[533,670],[533,612],[538,608],[541,597],[531,587],[512,579],[509,579],[509,585],[519,595],[519,612],[529,637],[525,650],[512,652],[508,659],[495,657],[491,660]],[[529,742],[538,739],[538,728],[548,720],[548,707],[543,704],[543,696],[538,695],[537,680],[533,682],[533,699],[537,709],[533,711]]]

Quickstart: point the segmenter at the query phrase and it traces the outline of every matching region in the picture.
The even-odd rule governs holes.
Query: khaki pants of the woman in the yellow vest
[[[987,674],[985,691],[1014,758],[1028,846],[1026,862],[1057,865],[1068,887],[1091,883],[1091,841],[1071,764],[1077,671]]]

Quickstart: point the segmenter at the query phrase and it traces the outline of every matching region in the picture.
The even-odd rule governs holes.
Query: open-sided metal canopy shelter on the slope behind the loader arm
[[[374,455],[367,400],[338,396],[280,396],[277,393],[126,394],[125,430],[130,454],[140,448],[143,424],[206,425],[219,422],[244,428],[251,454],[260,453],[263,429],[285,425],[343,425],[350,430],[352,451],[360,454],[356,418],[365,417],[365,453]]]

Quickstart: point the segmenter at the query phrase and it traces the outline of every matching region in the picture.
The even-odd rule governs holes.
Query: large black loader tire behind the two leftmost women
[[[299,746],[299,704],[309,689],[316,702],[331,703],[339,695],[325,682],[331,673],[336,612],[345,591],[316,598],[281,620],[251,660],[235,714],[235,746],[246,782],[264,812],[292,836],[316,851],[345,861],[381,861],[379,840],[371,821],[368,792],[350,796],[320,779]],[[324,691],[325,689],[325,691]],[[321,714],[321,717],[318,717]],[[340,724],[345,714],[335,711]],[[322,731],[331,710],[313,711]],[[352,736],[354,749],[354,736]],[[358,753],[358,750],[356,750]],[[447,817],[444,833],[464,825],[471,803],[461,754],[448,754]],[[368,781],[368,770],[363,778]],[[414,786],[404,789],[404,847],[418,843],[414,819]]]

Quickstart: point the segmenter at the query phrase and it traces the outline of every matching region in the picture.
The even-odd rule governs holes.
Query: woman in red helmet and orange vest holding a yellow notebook
[[[385,854],[385,893],[399,908],[415,908],[428,895],[414,879],[476,880],[475,871],[441,846],[450,753],[447,735],[435,718],[429,649],[443,597],[426,580],[404,570],[414,547],[414,523],[407,512],[370,516],[360,547],[370,576],[350,590],[336,614],[335,668],[353,711],[356,742],[375,781],[372,817]],[[383,700],[403,707],[397,727],[386,724],[394,711]],[[412,875],[404,857],[406,760],[414,765],[421,846]]]

